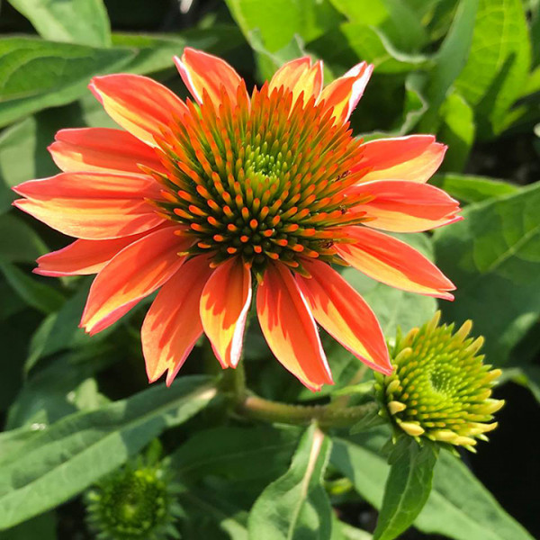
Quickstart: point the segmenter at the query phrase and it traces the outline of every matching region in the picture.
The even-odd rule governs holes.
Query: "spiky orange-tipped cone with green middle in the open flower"
[[[167,173],[153,173],[157,205],[193,236],[189,254],[211,255],[211,266],[242,257],[257,277],[272,261],[305,275],[304,257],[340,262],[340,228],[365,220],[349,211],[365,196],[345,193],[365,175],[349,172],[361,142],[312,97],[293,101],[264,85],[249,99],[242,83],[231,103],[223,88],[217,106],[207,94],[200,106],[188,101],[159,143]]]

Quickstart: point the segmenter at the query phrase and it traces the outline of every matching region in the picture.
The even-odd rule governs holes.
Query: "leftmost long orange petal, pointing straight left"
[[[14,187],[14,205],[64,234],[88,240],[130,236],[164,221],[145,200],[160,189],[151,176],[61,173]]]

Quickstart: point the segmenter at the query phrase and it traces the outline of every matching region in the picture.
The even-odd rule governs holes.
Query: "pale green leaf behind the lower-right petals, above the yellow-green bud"
[[[427,235],[419,233],[394,236],[408,242],[433,260],[433,247]],[[365,302],[377,316],[383,334],[388,339],[392,340],[395,337],[398,328],[408,332],[421,326],[437,311],[437,301],[434,298],[406,293],[389,285],[380,284],[352,267],[345,268],[341,275],[362,294]]]

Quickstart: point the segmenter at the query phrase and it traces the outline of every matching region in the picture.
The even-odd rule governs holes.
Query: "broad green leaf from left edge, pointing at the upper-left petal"
[[[135,51],[94,49],[32,38],[0,40],[0,127],[31,112],[69,103],[90,79],[117,71]]]

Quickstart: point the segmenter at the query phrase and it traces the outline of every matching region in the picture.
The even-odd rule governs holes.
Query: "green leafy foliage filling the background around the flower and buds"
[[[296,429],[228,419],[220,401],[207,408],[205,379],[148,388],[138,335],[148,302],[112,329],[85,336],[77,324],[89,280],[31,274],[36,257],[67,238],[11,207],[12,186],[55,174],[47,146],[58,129],[112,126],[87,90],[92,76],[148,75],[185,96],[171,61],[185,46],[226,58],[248,86],[304,54],[324,60],[326,82],[366,60],[375,69],[352,116],[356,134],[428,132],[449,146],[433,182],[463,202],[465,219],[405,239],[457,285],[455,302],[438,308],[447,321],[474,321],[488,362],[505,368],[508,384],[497,397],[508,405],[479,455],[464,464],[441,455],[428,504],[401,537],[540,536],[540,464],[531,444],[540,420],[538,0],[0,0],[0,32],[2,540],[91,537],[77,495],[159,435],[189,486],[181,496],[189,517],[183,537],[257,538],[253,523],[262,520],[264,529],[264,512],[249,525],[247,512],[291,462]],[[390,340],[398,327],[407,331],[437,310],[434,299],[344,275]],[[320,400],[356,373],[352,356],[329,342],[338,383],[313,395],[267,361],[257,332],[247,337],[246,364],[260,395]],[[212,373],[212,363],[196,347],[184,374]],[[319,488],[335,512],[308,501],[318,519],[334,523],[332,540],[371,537],[365,530],[374,529],[388,473],[380,454],[386,437],[382,428],[332,434]],[[338,490],[337,479],[348,480],[347,490]],[[302,519],[311,533],[295,539],[329,537],[310,536],[310,512]]]

